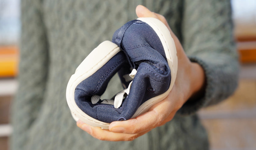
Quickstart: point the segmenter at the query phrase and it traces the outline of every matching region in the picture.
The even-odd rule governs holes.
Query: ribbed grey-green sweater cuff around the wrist
[[[207,106],[209,101],[212,99],[212,91],[214,91],[214,72],[211,67],[198,57],[190,56],[189,59],[191,62],[198,63],[203,68],[206,77],[206,86],[203,94],[197,100],[188,100],[183,104],[180,110],[177,111],[177,114],[181,115],[193,114],[200,108]]]

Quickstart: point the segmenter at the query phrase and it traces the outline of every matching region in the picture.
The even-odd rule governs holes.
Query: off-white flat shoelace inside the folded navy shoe
[[[132,72],[129,74],[129,76],[127,74],[127,75],[124,75],[123,77],[124,77],[125,81],[127,82],[127,81],[133,79],[136,73],[137,73],[137,70],[133,69]],[[128,88],[123,89],[122,91],[118,92],[117,95],[115,96],[115,100],[104,99],[104,100],[102,100],[101,104],[110,104],[110,105],[114,105],[115,108],[119,108],[122,105],[122,102],[123,102],[123,95],[125,93],[127,95],[129,95],[132,83],[133,83],[133,81],[131,81],[129,83]],[[91,98],[92,104],[98,103],[99,100],[100,100],[99,95],[93,95],[92,98]]]

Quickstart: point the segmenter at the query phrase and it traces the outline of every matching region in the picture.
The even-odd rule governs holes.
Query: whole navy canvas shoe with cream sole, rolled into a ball
[[[101,100],[117,72],[125,89]],[[138,18],[77,67],[67,85],[67,103],[76,121],[108,129],[109,123],[135,118],[166,98],[176,72],[176,48],[167,27],[155,18]]]

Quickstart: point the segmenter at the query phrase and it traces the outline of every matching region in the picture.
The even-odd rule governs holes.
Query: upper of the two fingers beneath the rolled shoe
[[[153,105],[150,110],[134,119],[112,122],[109,130],[113,132],[136,134],[151,130],[173,119],[175,113],[183,105],[183,94],[174,85],[168,96]]]

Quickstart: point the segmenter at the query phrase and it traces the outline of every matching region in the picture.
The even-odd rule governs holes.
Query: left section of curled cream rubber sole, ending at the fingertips
[[[102,42],[83,60],[76,68],[76,72],[70,77],[67,84],[66,98],[75,121],[80,119],[88,125],[108,129],[109,123],[96,120],[80,110],[75,102],[75,88],[80,82],[106,64],[118,52],[120,52],[120,48],[116,44],[111,41]]]

